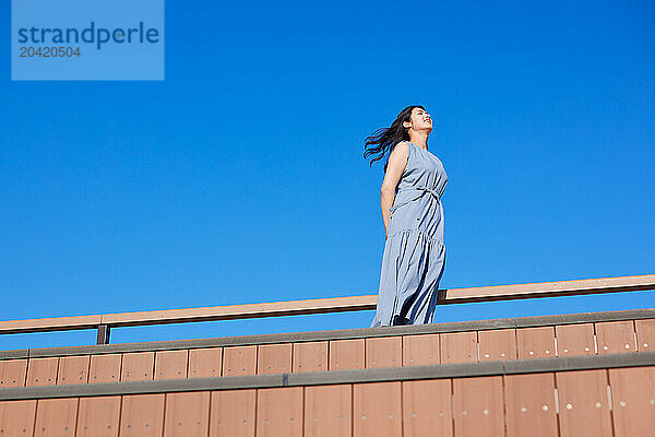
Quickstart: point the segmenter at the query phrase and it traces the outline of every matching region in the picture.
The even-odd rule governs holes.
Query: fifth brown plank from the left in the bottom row
[[[206,437],[210,394],[209,391],[166,393],[164,437]]]

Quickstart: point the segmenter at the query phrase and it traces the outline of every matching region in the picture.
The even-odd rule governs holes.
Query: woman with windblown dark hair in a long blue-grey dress
[[[401,111],[390,128],[366,139],[364,154],[390,150],[381,188],[385,238],[380,295],[372,327],[431,323],[445,264],[441,194],[448,176],[428,152],[432,119],[420,106]]]

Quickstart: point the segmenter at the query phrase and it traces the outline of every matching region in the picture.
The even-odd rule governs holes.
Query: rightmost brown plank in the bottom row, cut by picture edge
[[[615,437],[655,435],[655,367],[609,369]]]

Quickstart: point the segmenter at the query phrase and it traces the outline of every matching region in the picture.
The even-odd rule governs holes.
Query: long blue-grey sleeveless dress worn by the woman
[[[407,141],[407,165],[396,187],[373,327],[431,323],[445,264],[441,161]]]

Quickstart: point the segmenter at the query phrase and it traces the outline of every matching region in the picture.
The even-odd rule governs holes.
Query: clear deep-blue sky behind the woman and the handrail
[[[178,2],[163,82],[12,82],[0,33],[0,320],[377,294],[382,162],[410,104],[443,162],[441,287],[655,273],[648,2]],[[652,292],[434,321],[655,307]],[[111,341],[368,327],[373,311]],[[0,350],[95,342],[11,335]]]

